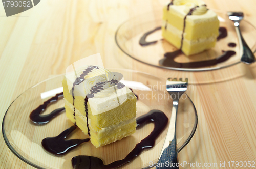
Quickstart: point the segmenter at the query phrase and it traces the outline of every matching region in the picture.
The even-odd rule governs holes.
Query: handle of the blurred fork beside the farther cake
[[[238,23],[238,22],[235,22]],[[239,41],[239,48],[240,48],[240,54],[241,54],[241,62],[245,63],[245,64],[251,64],[253,62],[255,62],[255,57],[253,52],[251,51],[251,49],[249,48],[249,46],[247,45],[247,43],[245,42],[240,28],[239,28],[239,23],[238,24],[234,24],[237,35],[238,35],[238,41]]]

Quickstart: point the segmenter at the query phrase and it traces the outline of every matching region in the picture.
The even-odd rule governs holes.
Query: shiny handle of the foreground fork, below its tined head
[[[176,138],[176,119],[178,112],[178,102],[178,98],[173,100],[172,117],[170,118],[169,128],[158,160],[160,166],[158,166],[158,164],[156,169],[179,168]]]

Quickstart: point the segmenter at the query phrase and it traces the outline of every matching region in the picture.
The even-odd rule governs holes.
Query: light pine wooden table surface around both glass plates
[[[198,110],[198,129],[179,153],[180,161],[218,163],[217,167],[202,168],[236,168],[228,167],[228,161],[255,162],[256,64],[181,72],[145,65],[127,57],[117,47],[114,35],[123,21],[161,9],[166,2],[44,0],[10,17],[6,17],[0,5],[1,124],[8,106],[26,89],[65,73],[73,62],[99,52],[104,67],[139,70],[163,78],[187,76],[194,81],[190,97]],[[243,11],[245,18],[256,25],[255,0],[205,2],[210,9]],[[221,167],[220,161],[225,161],[226,166]],[[33,168],[8,149],[2,136],[0,167]]]

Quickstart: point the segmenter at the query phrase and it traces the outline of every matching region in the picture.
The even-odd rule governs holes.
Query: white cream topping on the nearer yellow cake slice
[[[86,68],[88,68],[88,66],[78,68],[75,73],[66,75],[70,91],[72,91],[76,77],[80,77]],[[91,72],[84,76],[84,81],[74,87],[74,96],[88,96],[88,102],[93,115],[109,111],[122,104],[127,97],[130,98],[133,96],[132,91],[127,87],[118,89],[117,82],[121,80],[122,74],[112,73],[101,67],[97,68],[93,68]],[[111,80],[112,82],[114,80],[114,83],[111,83]],[[96,85],[103,89],[98,89],[99,91],[95,92],[94,87],[96,87]],[[93,96],[91,95],[92,97],[89,97],[92,93]]]

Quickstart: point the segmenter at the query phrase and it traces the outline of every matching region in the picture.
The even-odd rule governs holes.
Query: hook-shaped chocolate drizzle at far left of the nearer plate
[[[39,105],[36,109],[34,109],[30,115],[29,118],[36,124],[46,124],[48,123],[52,118],[57,116],[61,111],[65,110],[64,107],[58,108],[54,111],[52,111],[48,115],[40,115],[42,111],[45,111],[47,106],[53,102],[58,101],[59,98],[63,97],[63,92],[56,94],[54,97],[48,99],[43,104]]]

